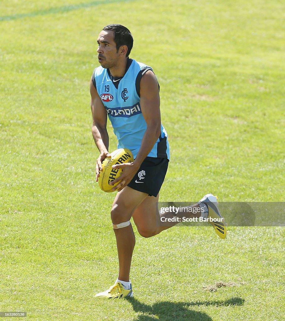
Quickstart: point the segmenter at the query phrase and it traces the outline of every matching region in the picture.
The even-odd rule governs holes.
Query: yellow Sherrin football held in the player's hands
[[[117,149],[114,152],[111,152],[111,157],[106,157],[102,161],[102,171],[98,177],[99,187],[104,192],[114,192],[112,188],[116,185],[109,185],[110,182],[122,175],[122,169],[113,169],[112,166],[115,164],[131,163],[134,161],[134,156],[131,151],[125,148]]]

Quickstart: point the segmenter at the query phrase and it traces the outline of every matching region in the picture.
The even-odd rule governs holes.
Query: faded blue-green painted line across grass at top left
[[[49,8],[49,9],[38,10],[34,12],[17,13],[10,16],[2,16],[0,17],[0,21],[17,20],[17,19],[23,19],[27,17],[36,17],[36,16],[42,16],[46,14],[53,14],[53,13],[63,13],[63,12],[78,10],[82,8],[95,7],[100,4],[112,4],[112,3],[130,2],[130,1],[132,0],[99,0],[99,1],[81,3],[81,4],[64,5],[62,7],[57,7],[57,8]]]

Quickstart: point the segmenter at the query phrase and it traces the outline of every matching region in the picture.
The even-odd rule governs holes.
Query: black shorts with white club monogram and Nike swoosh
[[[156,197],[164,181],[168,162],[167,158],[146,157],[128,187]]]

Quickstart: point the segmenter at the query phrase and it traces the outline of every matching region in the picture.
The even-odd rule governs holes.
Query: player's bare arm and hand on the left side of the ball
[[[93,121],[92,136],[100,152],[99,158],[96,161],[96,181],[98,181],[99,173],[102,171],[102,161],[111,155],[108,152],[109,136],[107,132],[107,112],[92,80],[90,81],[90,95],[90,107]]]

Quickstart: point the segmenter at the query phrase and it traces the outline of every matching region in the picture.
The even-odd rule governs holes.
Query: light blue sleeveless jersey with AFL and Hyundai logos
[[[151,69],[133,59],[124,77],[120,80],[118,88],[110,79],[107,69],[102,66],[96,68],[92,76],[117,136],[117,148],[129,149],[132,151],[134,158],[141,147],[142,137],[147,128],[142,116],[139,97],[142,70],[146,67],[147,70]],[[160,137],[148,156],[170,159],[167,132],[162,124]]]

